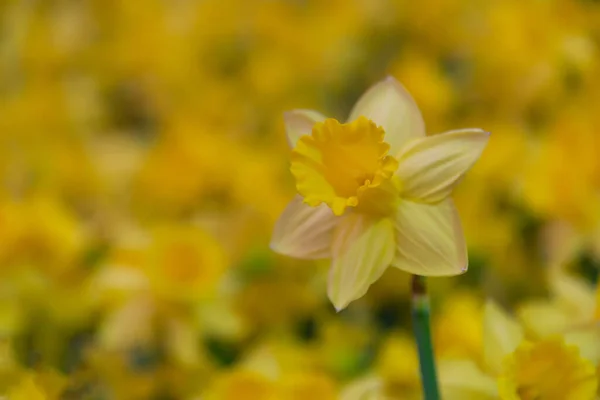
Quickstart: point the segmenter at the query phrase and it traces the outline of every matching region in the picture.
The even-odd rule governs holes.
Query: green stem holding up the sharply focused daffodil
[[[411,284],[412,320],[419,364],[421,368],[421,383],[425,400],[439,400],[440,394],[435,371],[433,346],[431,344],[431,328],[429,325],[429,296],[425,277],[413,275]]]

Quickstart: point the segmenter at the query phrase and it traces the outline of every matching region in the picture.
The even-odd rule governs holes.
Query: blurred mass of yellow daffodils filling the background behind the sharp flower
[[[419,399],[408,276],[336,314],[327,262],[268,248],[282,113],[344,120],[386,75],[428,133],[492,132],[454,196],[470,270],[430,280],[438,357],[480,359],[486,298],[591,320],[599,46],[593,0],[0,1],[0,393]]]

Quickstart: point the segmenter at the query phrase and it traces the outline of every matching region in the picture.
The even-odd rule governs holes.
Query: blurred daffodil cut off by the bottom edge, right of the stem
[[[598,377],[577,344],[553,336],[531,341],[523,327],[493,302],[484,311],[483,362],[440,364],[445,399],[591,400]]]

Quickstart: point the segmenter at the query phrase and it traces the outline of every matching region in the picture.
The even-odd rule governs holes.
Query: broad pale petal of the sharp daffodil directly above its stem
[[[438,204],[400,203],[396,211],[396,256],[393,265],[423,276],[462,274],[467,248],[451,199]]]

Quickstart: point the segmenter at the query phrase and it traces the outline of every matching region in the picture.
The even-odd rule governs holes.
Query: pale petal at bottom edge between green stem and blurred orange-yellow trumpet
[[[442,360],[438,364],[440,390],[445,400],[494,400],[496,380],[471,360]]]

